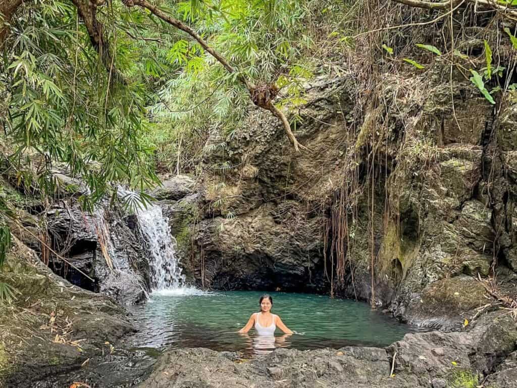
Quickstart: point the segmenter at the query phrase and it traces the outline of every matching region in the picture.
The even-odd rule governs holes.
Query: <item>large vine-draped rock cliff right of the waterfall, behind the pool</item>
[[[210,138],[200,185],[162,201],[189,278],[205,288],[332,291],[452,329],[485,304],[474,277],[493,267],[516,274],[515,107],[494,126],[479,91],[453,81],[452,120],[451,88],[439,79],[422,86],[386,74],[386,84],[384,105],[358,120],[352,73],[316,80],[297,108],[305,153],[260,111],[231,142]],[[517,285],[506,279],[501,287]]]

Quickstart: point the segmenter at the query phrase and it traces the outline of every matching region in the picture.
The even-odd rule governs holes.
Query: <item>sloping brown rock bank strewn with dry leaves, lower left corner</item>
[[[38,381],[105,363],[135,330],[112,299],[55,275],[16,238],[0,282],[17,290],[16,300],[0,303],[0,386],[65,386]]]

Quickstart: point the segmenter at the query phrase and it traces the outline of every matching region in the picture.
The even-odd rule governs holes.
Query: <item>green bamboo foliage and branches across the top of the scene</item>
[[[487,33],[517,49],[515,0],[0,0],[2,176],[49,199],[73,189],[54,175],[65,167],[87,185],[87,209],[117,198],[115,183],[140,193],[126,204],[145,204],[157,170],[195,171],[209,133],[232,137],[250,105],[275,116],[304,152],[288,110],[325,64],[345,71],[333,64],[346,52],[370,69],[424,69],[402,32],[452,25],[465,10],[489,14]],[[369,49],[356,50],[363,39]],[[464,55],[453,40],[413,43],[451,66]],[[485,66],[465,70],[495,103],[494,93],[514,87],[504,71],[515,54],[496,64],[497,48],[485,44]],[[10,240],[2,219],[14,216],[0,195],[0,263]]]

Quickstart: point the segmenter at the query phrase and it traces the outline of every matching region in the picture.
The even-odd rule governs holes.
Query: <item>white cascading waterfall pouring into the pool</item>
[[[176,256],[176,240],[171,235],[169,219],[160,206],[148,205],[139,210],[140,231],[149,246],[151,290],[179,290],[185,285]]]

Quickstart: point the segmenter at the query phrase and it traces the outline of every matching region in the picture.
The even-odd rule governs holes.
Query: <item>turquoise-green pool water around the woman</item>
[[[133,346],[149,351],[203,347],[253,357],[279,347],[340,348],[347,345],[387,346],[411,331],[410,327],[372,310],[366,303],[328,296],[271,292],[273,314],[295,332],[275,338],[260,337],[254,329],[236,333],[258,311],[262,292],[231,291],[151,295],[133,307],[139,333]]]

